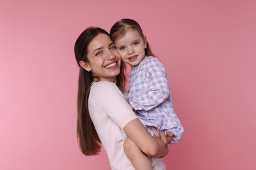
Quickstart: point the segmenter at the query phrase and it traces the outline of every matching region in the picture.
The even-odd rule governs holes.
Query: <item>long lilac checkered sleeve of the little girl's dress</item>
[[[160,61],[151,59],[146,63],[146,71],[146,78],[149,80],[146,82],[147,88],[129,100],[135,110],[150,110],[163,103],[170,95],[166,71]]]

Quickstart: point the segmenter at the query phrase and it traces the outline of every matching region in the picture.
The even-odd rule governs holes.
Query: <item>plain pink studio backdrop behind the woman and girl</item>
[[[0,1],[0,169],[110,169],[76,140],[74,42],[137,20],[185,133],[167,169],[256,169],[256,1]]]

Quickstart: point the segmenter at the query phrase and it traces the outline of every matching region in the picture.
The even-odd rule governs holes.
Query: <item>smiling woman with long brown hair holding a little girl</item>
[[[153,169],[165,169],[157,159],[168,152],[166,143],[150,137],[127,103],[124,64],[109,34],[101,28],[89,27],[75,42],[75,58],[80,67],[77,95],[77,137],[85,155],[96,155],[104,147],[112,169],[134,169],[125,156],[126,135],[152,160]],[[125,132],[124,132],[125,131]],[[160,137],[158,133],[156,136]],[[101,143],[101,144],[100,144]]]

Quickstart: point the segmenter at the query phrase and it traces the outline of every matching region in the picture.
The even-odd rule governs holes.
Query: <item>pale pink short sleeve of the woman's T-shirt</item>
[[[92,97],[95,105],[102,107],[104,114],[112,119],[117,126],[123,129],[131,120],[137,118],[116,84],[112,82],[97,82],[94,92]]]

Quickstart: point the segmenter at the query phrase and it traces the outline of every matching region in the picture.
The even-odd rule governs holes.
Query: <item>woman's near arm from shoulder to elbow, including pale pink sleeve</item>
[[[108,90],[106,90],[108,89]],[[106,118],[121,127],[131,140],[149,156],[161,157],[168,153],[168,148],[160,139],[150,136],[127,103],[123,93],[111,82],[97,82],[91,92],[92,105],[102,107]]]

